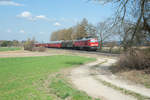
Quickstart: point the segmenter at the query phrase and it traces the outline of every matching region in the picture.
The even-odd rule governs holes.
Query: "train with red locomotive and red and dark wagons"
[[[96,51],[99,47],[97,38],[85,38],[80,40],[67,40],[67,41],[52,41],[50,43],[37,43],[35,47],[46,48],[68,48],[79,50],[92,50]]]

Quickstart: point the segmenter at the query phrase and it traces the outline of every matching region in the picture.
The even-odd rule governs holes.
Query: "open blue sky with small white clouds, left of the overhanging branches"
[[[0,0],[0,40],[35,37],[49,42],[51,32],[87,18],[96,24],[111,17],[113,7],[88,0]]]

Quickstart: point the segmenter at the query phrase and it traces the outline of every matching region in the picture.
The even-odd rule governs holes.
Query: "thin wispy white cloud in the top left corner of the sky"
[[[0,6],[23,6],[23,5],[10,0],[0,0]]]

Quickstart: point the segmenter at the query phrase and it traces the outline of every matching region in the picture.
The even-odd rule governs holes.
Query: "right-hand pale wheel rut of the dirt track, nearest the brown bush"
[[[101,59],[102,60],[102,59]],[[135,93],[139,93],[143,96],[147,96],[150,98],[150,89],[145,88],[142,85],[135,84],[133,82],[122,80],[118,76],[115,76],[109,71],[109,66],[115,62],[114,59],[107,59],[107,62],[101,64],[99,67],[96,68],[98,73],[95,74],[97,79],[109,82],[117,87],[124,88],[126,90],[133,91]]]

